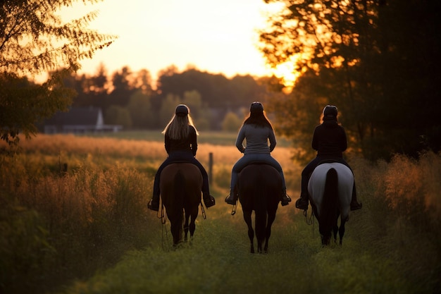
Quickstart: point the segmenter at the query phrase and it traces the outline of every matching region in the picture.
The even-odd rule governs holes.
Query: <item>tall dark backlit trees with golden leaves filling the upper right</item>
[[[439,1],[266,2],[284,6],[261,31],[261,50],[273,66],[300,56],[297,68],[304,73],[276,110],[315,105],[279,122],[308,124],[325,104],[336,104],[349,137],[371,159],[440,149]]]

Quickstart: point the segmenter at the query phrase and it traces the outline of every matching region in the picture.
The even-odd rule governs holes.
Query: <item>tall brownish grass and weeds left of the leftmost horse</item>
[[[48,174],[26,161],[4,158],[0,171],[0,292],[45,292],[149,242],[146,217],[154,216],[147,214],[151,180],[144,174],[87,162]]]

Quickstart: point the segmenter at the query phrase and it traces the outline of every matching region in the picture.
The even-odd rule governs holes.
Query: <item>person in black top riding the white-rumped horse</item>
[[[343,152],[347,149],[347,137],[344,128],[337,122],[337,107],[327,105],[323,109],[323,123],[317,125],[312,136],[312,148],[317,150],[317,156],[302,171],[302,192],[296,201],[298,209],[308,209],[308,181],[313,170],[321,161],[332,159],[349,166],[343,159]],[[352,169],[351,169],[352,171]],[[355,183],[352,189],[351,210],[361,209],[361,203],[356,200]]]

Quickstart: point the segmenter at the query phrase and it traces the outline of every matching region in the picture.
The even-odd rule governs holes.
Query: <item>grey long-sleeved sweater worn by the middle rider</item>
[[[247,147],[242,144],[247,140]],[[268,146],[268,140],[270,145]],[[236,139],[236,147],[244,154],[253,153],[270,153],[273,151],[275,144],[274,131],[267,127],[258,127],[256,125],[245,124],[239,130]]]

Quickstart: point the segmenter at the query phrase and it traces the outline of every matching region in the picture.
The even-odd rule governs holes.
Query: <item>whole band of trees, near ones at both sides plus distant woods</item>
[[[225,117],[242,121],[232,112],[259,100],[278,135],[303,149],[301,160],[312,156],[311,135],[326,104],[338,107],[349,146],[368,159],[440,151],[440,1],[264,1],[282,4],[260,31],[266,62],[293,62],[302,73],[287,94],[276,78],[229,79],[196,68],[170,66],[155,88],[147,70],[125,67],[109,77],[101,66],[96,75],[77,75],[82,59],[116,39],[88,28],[97,12],[62,23],[56,11],[75,0],[3,1],[1,140],[30,137],[37,123],[70,106],[99,106],[107,123],[128,128],[163,128],[182,102],[199,128],[216,130],[234,125]],[[42,72],[51,75],[41,85],[27,78]]]

